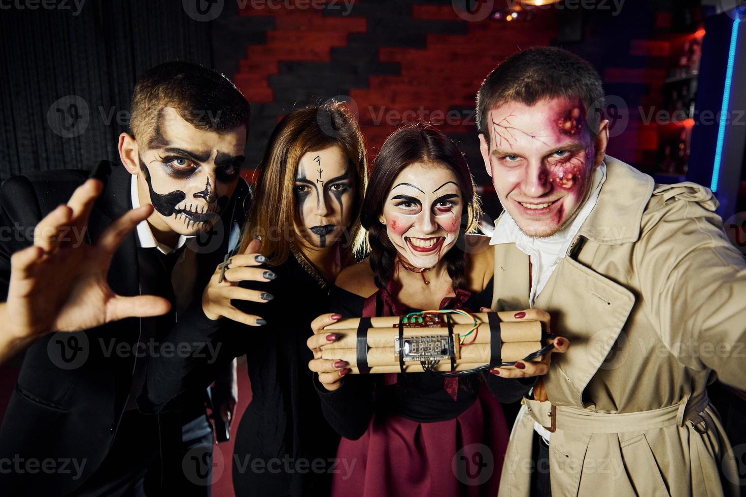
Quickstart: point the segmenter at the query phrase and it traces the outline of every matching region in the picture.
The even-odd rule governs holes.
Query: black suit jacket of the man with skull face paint
[[[89,176],[87,171],[46,171],[4,183],[0,191],[0,300],[7,299],[10,256],[33,243],[38,221],[66,203]],[[90,216],[89,243],[131,209],[131,175],[122,165],[101,162],[93,176],[106,186]],[[195,288],[204,288],[222,262],[230,228],[235,237],[249,195],[248,185],[239,180],[222,215],[226,227],[222,241],[215,250],[198,254]],[[140,294],[137,261],[136,235],[131,232],[110,266],[108,282],[117,294]],[[147,330],[153,331],[153,323],[154,318],[129,318],[84,332],[54,333],[26,350],[0,427],[0,460],[20,461],[10,472],[0,472],[3,495],[65,495],[90,478],[110,449],[131,393],[136,357],[116,350],[133,350],[152,335]],[[145,367],[142,359],[137,367]],[[34,471],[50,459],[54,471]],[[36,466],[29,466],[28,461]]]

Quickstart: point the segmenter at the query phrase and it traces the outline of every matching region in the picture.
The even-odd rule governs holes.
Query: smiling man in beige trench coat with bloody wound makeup
[[[746,387],[746,262],[711,191],[604,155],[603,101],[559,48],[510,57],[477,95],[504,206],[492,308],[546,309],[573,344],[524,399],[500,495],[737,495],[706,385]]]

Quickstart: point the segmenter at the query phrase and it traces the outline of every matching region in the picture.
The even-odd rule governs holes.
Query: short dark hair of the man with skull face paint
[[[137,80],[130,118],[134,139],[154,146],[166,107],[173,107],[200,130],[222,132],[245,126],[248,132],[248,101],[227,77],[197,64],[163,63]]]

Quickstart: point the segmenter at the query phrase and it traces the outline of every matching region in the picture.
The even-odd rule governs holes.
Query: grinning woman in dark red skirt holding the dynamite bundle
[[[346,478],[335,475],[332,495],[497,494],[509,437],[498,399],[520,399],[533,384],[522,378],[546,373],[547,364],[518,361],[515,370],[460,378],[348,375],[345,361],[319,353],[336,339],[322,327],[341,317],[489,306],[489,238],[467,234],[479,215],[468,165],[450,139],[418,125],[386,140],[363,203],[370,257],[340,273],[331,294],[336,314],[314,320],[307,342],[325,416],[343,437],[337,458],[357,461]],[[528,309],[514,319],[548,321],[548,314]],[[452,465],[460,455],[476,464],[466,476]]]

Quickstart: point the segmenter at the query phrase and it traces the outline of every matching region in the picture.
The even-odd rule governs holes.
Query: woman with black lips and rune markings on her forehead
[[[240,285],[263,291],[269,302],[234,305],[266,324],[231,323],[219,337],[241,341],[233,353],[245,352],[251,380],[251,403],[236,433],[233,487],[236,496],[328,495],[339,435],[310,387],[313,354],[305,344],[313,318],[329,309],[331,283],[363,249],[363,136],[341,104],[295,110],[275,128],[258,173],[243,247],[261,239],[272,281]],[[244,264],[243,252],[228,265],[229,281],[241,279],[231,268]]]

